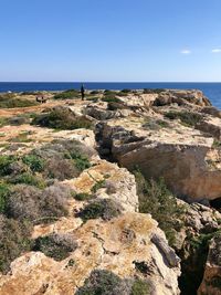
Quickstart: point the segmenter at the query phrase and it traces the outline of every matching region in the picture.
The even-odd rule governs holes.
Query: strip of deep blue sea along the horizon
[[[65,91],[80,89],[77,82],[0,82],[1,92],[32,92],[32,91]],[[86,89],[200,89],[211,101],[212,105],[221,109],[221,83],[187,83],[187,82],[85,82]]]

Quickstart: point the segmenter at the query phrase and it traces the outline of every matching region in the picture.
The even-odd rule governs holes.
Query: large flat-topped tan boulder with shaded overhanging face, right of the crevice
[[[108,148],[120,166],[129,170],[138,166],[147,178],[164,177],[181,198],[201,201],[221,197],[221,171],[211,169],[212,138],[183,127],[145,131],[139,122],[129,126],[128,120],[98,127],[103,148]]]

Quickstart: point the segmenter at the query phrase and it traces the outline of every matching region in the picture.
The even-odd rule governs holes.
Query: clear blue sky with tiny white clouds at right
[[[0,81],[221,81],[221,0],[0,0]]]

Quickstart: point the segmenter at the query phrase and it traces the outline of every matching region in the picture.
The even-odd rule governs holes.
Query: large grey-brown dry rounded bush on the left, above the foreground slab
[[[29,220],[32,223],[65,217],[69,211],[71,190],[62,185],[53,185],[44,190],[35,187],[18,185],[8,197],[8,217]]]

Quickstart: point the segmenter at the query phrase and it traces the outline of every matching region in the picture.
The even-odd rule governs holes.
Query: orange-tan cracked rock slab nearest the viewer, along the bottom
[[[72,295],[96,268],[123,278],[148,277],[158,295],[179,294],[179,259],[149,215],[126,213],[109,222],[92,220],[78,229],[73,229],[72,219],[65,223],[60,232],[77,241],[74,253],[62,262],[40,252],[24,254],[11,264],[11,273],[0,277],[1,295]],[[138,267],[141,263],[144,270]]]

